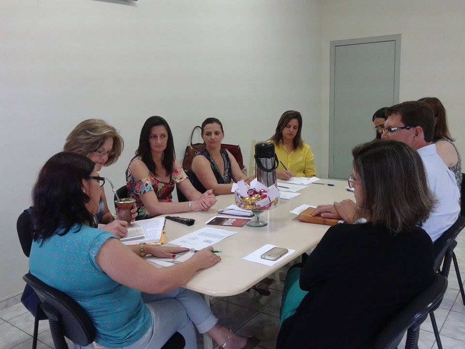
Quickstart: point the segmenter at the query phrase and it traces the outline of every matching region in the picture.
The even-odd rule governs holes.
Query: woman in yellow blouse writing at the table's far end
[[[316,175],[313,153],[310,146],[302,141],[302,116],[298,111],[285,111],[279,119],[276,132],[270,141],[275,144],[279,159],[276,174],[279,179],[291,177],[312,177]]]

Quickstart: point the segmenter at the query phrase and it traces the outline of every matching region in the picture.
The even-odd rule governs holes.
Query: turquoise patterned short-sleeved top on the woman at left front
[[[95,326],[97,344],[123,348],[138,341],[153,320],[140,291],[112,280],[95,261],[110,238],[115,237],[109,232],[75,224],[65,235],[33,241],[29,269],[84,308]]]

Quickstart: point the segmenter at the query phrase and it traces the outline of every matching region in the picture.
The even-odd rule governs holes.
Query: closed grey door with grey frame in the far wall
[[[399,102],[400,35],[331,42],[329,177],[352,173],[352,148],[374,139],[372,115]]]

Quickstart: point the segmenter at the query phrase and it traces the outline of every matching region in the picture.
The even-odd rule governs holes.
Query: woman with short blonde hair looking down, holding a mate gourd
[[[115,163],[123,152],[124,141],[118,130],[100,119],[84,120],[76,126],[66,137],[63,150],[84,155],[95,163],[94,170],[100,171],[103,166]],[[118,215],[118,209],[116,210]],[[134,209],[133,216],[136,216]],[[116,237],[122,238],[127,234],[127,223],[117,219],[110,212],[105,196],[101,189],[98,211],[93,217],[93,225],[106,224],[102,229]]]

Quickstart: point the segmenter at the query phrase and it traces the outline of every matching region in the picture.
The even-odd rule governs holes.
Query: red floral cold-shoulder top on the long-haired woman
[[[140,199],[140,195],[145,194],[149,191],[155,191],[156,198],[158,199],[158,201],[171,202],[171,192],[174,190],[174,185],[186,180],[187,175],[184,172],[183,168],[179,167],[175,169],[173,172],[171,172],[170,181],[168,183],[156,179],[155,174],[153,174],[152,172],[149,172],[149,176],[147,178],[138,180],[134,178],[134,176],[131,174],[131,170],[129,169],[132,161],[134,160],[135,159],[131,160],[126,170],[126,187],[128,197],[136,200],[136,221],[139,221],[142,219],[150,218],[150,215],[147,213],[147,210],[145,209],[145,206],[142,203],[142,200]]]

